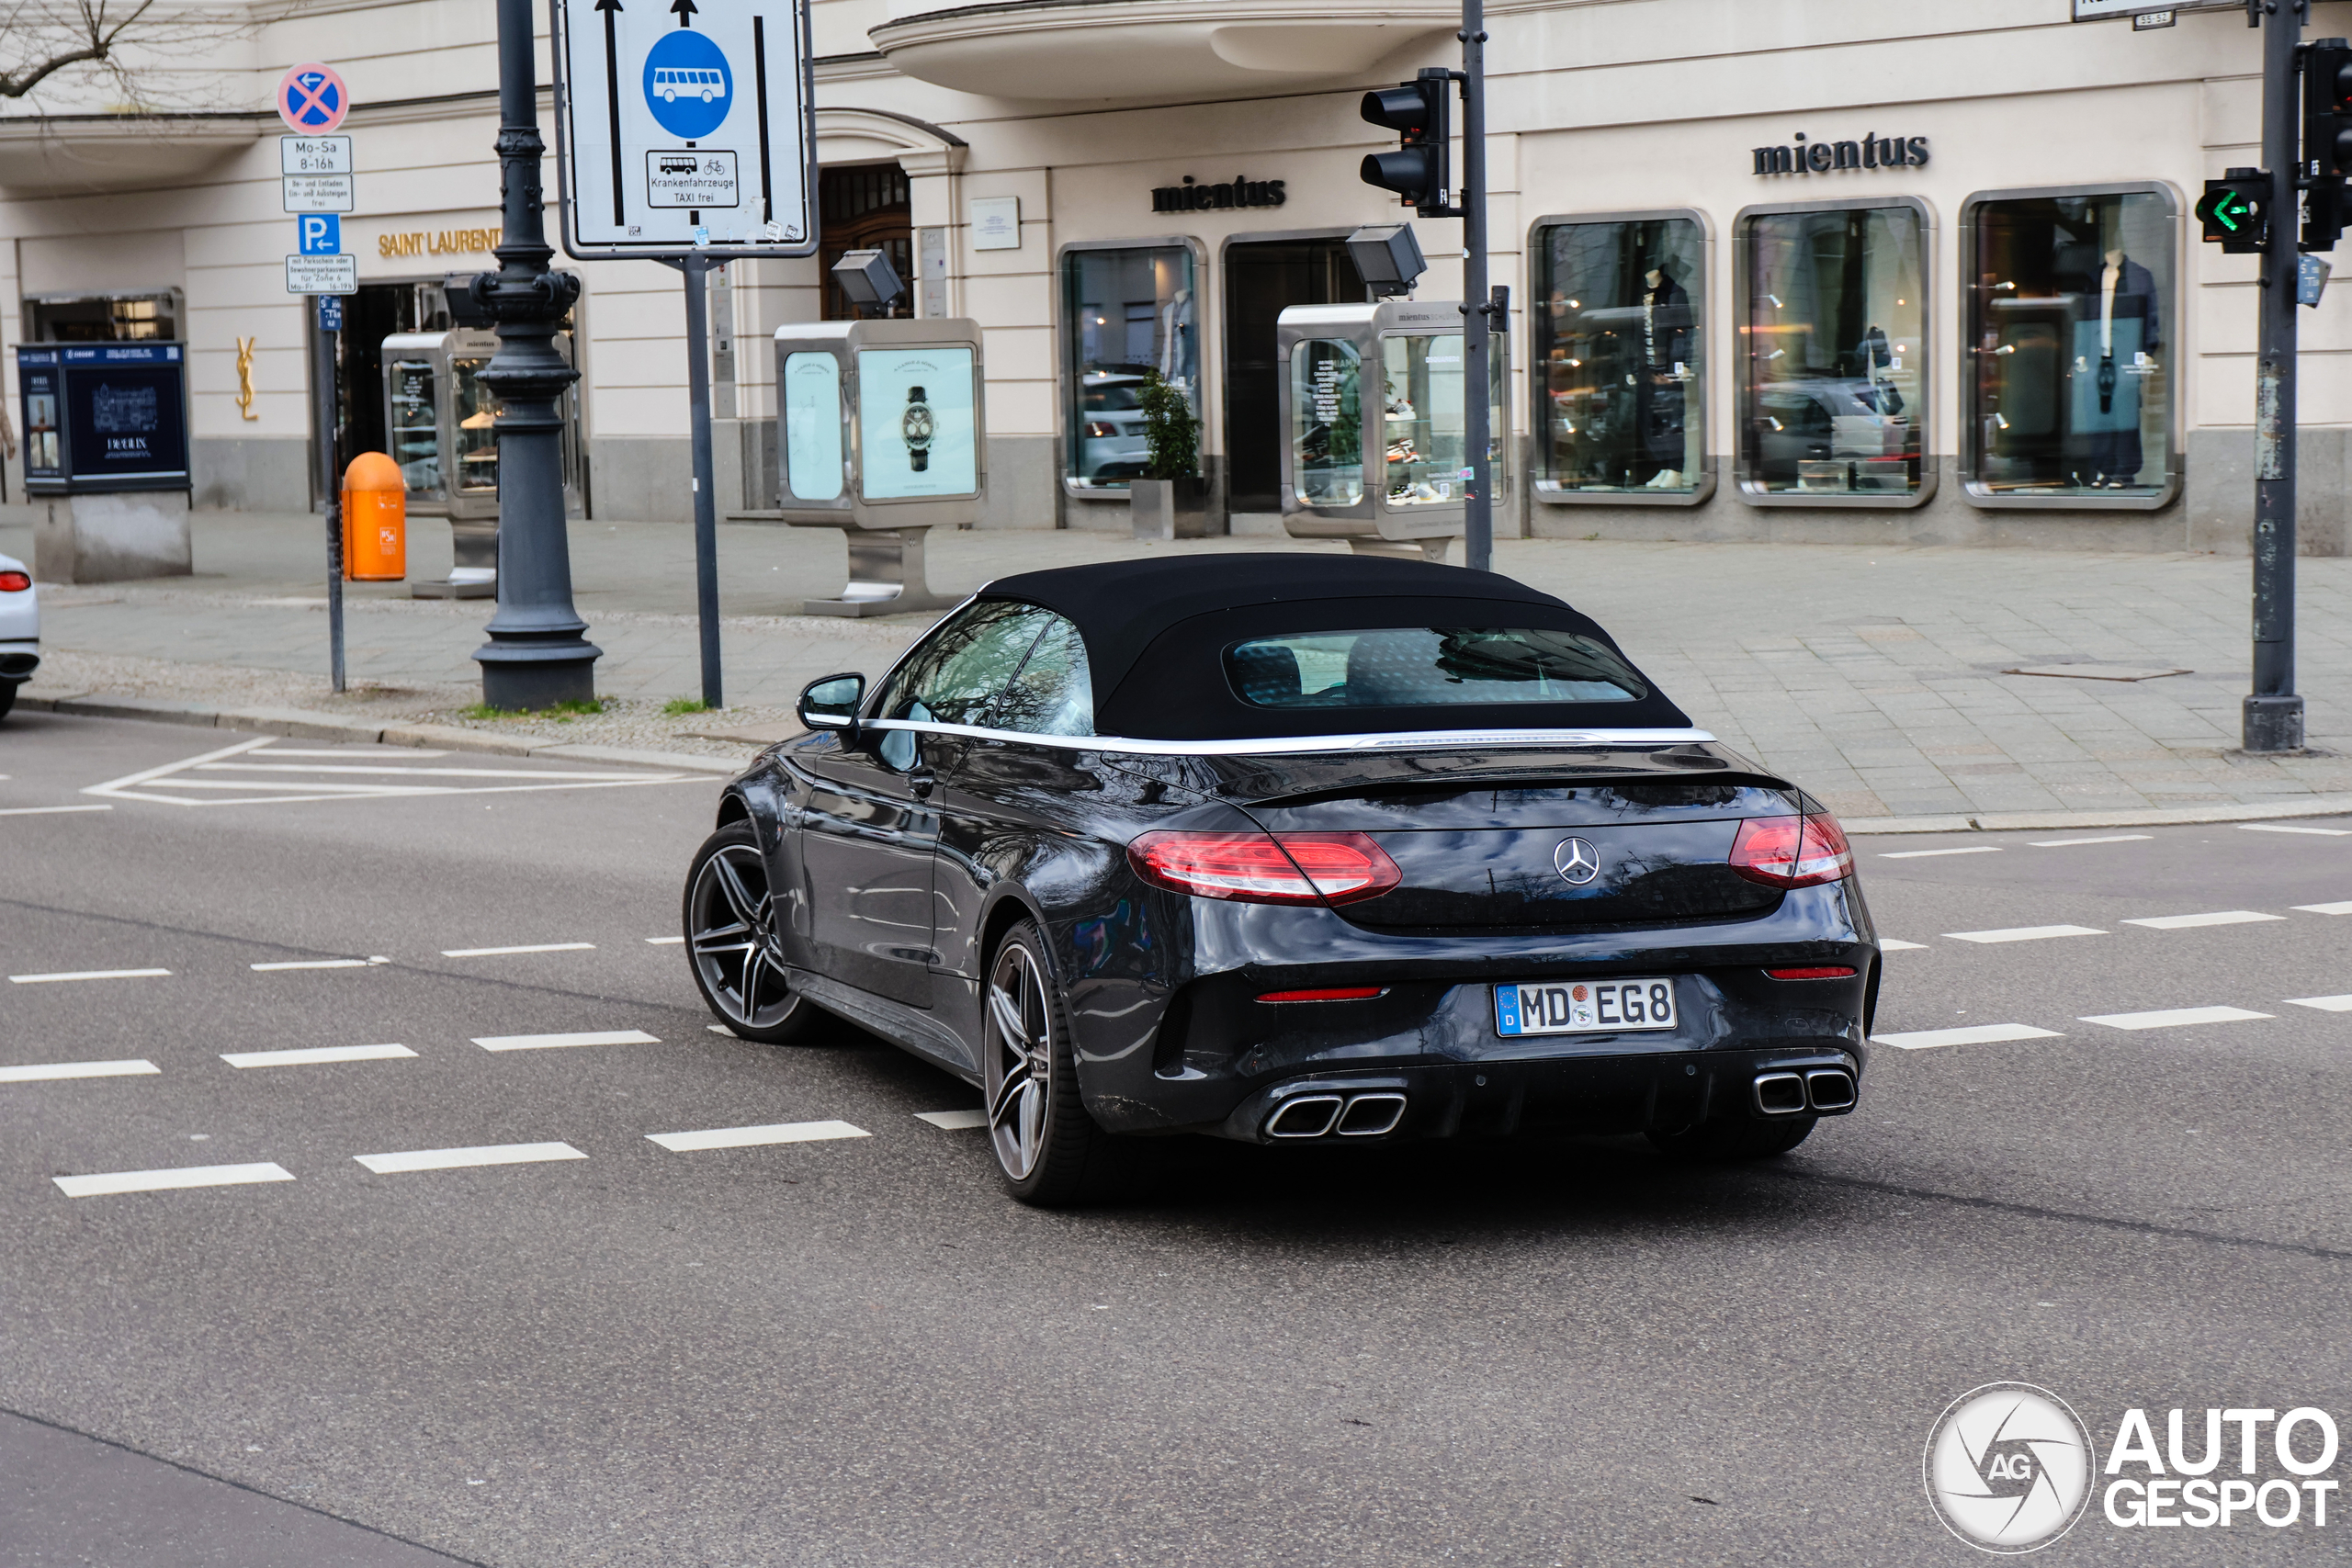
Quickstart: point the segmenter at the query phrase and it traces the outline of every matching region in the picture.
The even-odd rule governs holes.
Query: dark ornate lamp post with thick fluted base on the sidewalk
[[[475,306],[499,327],[482,386],[499,395],[499,614],[482,628],[482,703],[548,708],[595,698],[602,649],[572,609],[564,536],[564,390],[579,371],[555,353],[555,331],[581,280],[550,273],[541,221],[539,82],[532,0],[499,0],[499,181],[506,230],[499,270],[473,280]]]

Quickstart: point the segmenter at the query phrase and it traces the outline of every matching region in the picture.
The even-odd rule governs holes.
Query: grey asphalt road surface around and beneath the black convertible
[[[953,1079],[708,1027],[649,938],[710,778],[52,715],[0,776],[0,1070],[153,1067],[0,1072],[7,1568],[1976,1561],[1919,1460],[1983,1382],[2096,1458],[2352,1418],[2352,820],[1858,842],[1922,1039],[1783,1161],[1202,1143],[1035,1213]],[[647,1039],[477,1044],[546,1034]],[[555,1147],[358,1159],[494,1145]],[[289,1180],[71,1180],[195,1166]]]

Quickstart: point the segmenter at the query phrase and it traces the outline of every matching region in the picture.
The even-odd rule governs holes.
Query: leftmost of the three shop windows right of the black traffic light
[[[1696,496],[1705,444],[1698,219],[1536,230],[1536,484]]]

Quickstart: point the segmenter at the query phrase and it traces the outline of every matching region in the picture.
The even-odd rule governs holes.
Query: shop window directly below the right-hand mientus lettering
[[[1924,212],[1752,212],[1740,240],[1740,487],[1806,501],[1917,496]]]

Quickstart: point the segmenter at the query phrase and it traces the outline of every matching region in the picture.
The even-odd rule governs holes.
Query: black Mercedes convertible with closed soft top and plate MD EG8
[[[1033,571],[800,717],[694,856],[694,980],[743,1039],[830,1013],[976,1084],[1018,1199],[1120,1135],[1736,1159],[1856,1105],[1837,820],[1510,578]]]

